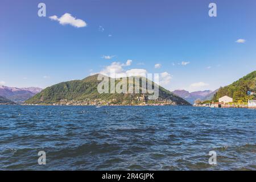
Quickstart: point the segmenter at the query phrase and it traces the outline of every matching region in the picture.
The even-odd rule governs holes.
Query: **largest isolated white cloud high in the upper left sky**
[[[65,13],[62,15],[60,18],[58,18],[56,15],[49,16],[49,19],[58,21],[60,24],[65,25],[65,24],[70,24],[73,27],[86,27],[87,24],[85,23],[84,20],[82,19],[76,19],[69,13]]]

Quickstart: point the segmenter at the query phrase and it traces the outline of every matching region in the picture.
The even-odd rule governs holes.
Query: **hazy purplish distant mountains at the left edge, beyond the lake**
[[[22,103],[28,100],[28,98],[35,96],[35,94],[41,92],[42,90],[43,89],[36,87],[15,88],[0,85],[0,96],[5,97],[16,103]]]

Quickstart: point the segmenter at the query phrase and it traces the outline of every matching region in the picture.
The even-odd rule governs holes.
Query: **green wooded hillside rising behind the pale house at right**
[[[247,91],[256,92],[256,71],[240,78],[233,84],[218,89],[218,92],[213,96],[213,101],[217,102],[218,98],[229,96],[233,98],[234,102],[247,102],[255,97],[247,96]]]

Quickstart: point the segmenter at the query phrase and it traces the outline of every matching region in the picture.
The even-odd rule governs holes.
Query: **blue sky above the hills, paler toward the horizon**
[[[217,17],[208,15],[210,2]],[[114,66],[162,73],[169,90],[214,90],[256,70],[255,0],[0,3],[2,85],[46,88]],[[49,18],[66,13],[86,26]]]

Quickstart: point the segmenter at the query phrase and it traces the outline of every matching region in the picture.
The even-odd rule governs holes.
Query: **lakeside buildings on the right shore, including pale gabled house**
[[[248,92],[247,95],[249,96],[255,96],[255,92]],[[255,98],[255,97],[254,97]],[[229,108],[229,107],[235,107],[235,108],[251,108],[256,109],[256,100],[248,100],[248,102],[242,102],[237,101],[233,102],[233,98],[228,96],[223,96],[218,99],[218,102],[210,102],[210,101],[204,101],[204,102],[195,102],[193,106],[197,107],[219,107],[219,108]]]

